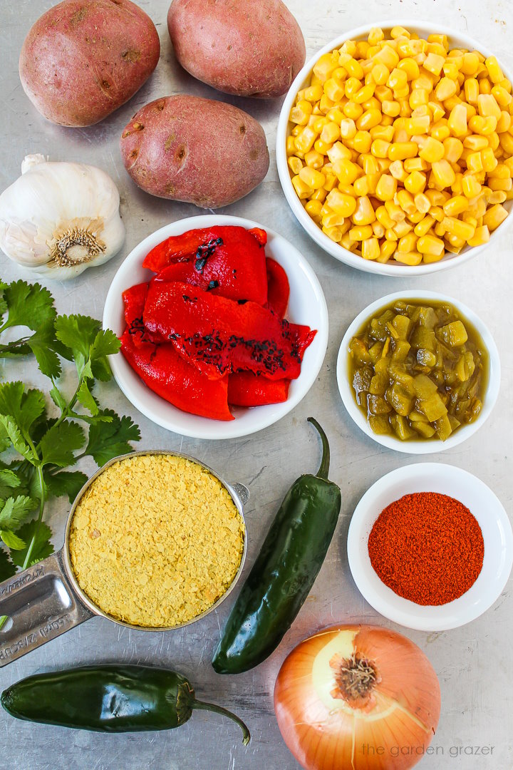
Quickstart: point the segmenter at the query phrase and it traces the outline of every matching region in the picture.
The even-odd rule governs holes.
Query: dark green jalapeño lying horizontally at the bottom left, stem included
[[[202,708],[236,721],[245,745],[250,738],[235,714],[197,701],[189,681],[165,668],[95,665],[36,674],[4,690],[2,706],[18,719],[100,732],[168,730]]]

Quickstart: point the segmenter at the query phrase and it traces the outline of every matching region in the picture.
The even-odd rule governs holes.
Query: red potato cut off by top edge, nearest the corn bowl
[[[173,0],[168,31],[182,67],[229,94],[281,96],[305,64],[301,29],[281,0]]]

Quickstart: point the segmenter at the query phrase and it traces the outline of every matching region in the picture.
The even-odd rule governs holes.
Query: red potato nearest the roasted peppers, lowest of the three
[[[197,96],[145,105],[125,126],[120,146],[139,187],[204,209],[247,195],[269,167],[260,123],[242,109]]]

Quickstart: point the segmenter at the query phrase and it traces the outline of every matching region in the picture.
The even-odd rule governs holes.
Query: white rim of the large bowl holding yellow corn
[[[368,32],[370,32],[370,30],[374,27],[390,29],[395,26],[413,29],[415,32],[428,32],[429,34],[440,33],[441,35],[447,35],[449,38],[454,39],[455,45],[458,45],[458,42],[461,42],[469,50],[479,51],[486,56],[496,56],[496,54],[491,52],[490,49],[488,49],[485,45],[481,45],[481,43],[479,43],[477,40],[471,38],[469,35],[466,35],[465,32],[458,32],[458,30],[454,28],[441,24],[435,26],[432,22],[417,22],[412,18],[380,19],[374,24],[365,24],[354,29],[349,29],[348,32],[343,32],[341,35],[338,35],[336,38],[326,43],[326,45],[319,49],[318,52],[316,52],[311,57],[311,59],[308,59],[308,62],[306,62],[301,71],[298,72],[298,75],[296,75],[290,86],[290,89],[288,89],[285,100],[281,105],[281,111],[278,119],[278,129],[276,132],[276,165],[278,166],[278,176],[280,179],[281,188],[283,189],[285,198],[288,201],[288,205],[292,209],[292,213],[294,213],[296,219],[298,219],[298,223],[305,229],[311,239],[313,239],[315,243],[318,244],[318,246],[321,246],[321,249],[324,249],[325,252],[331,256],[334,256],[335,259],[338,259],[339,262],[343,262],[346,265],[355,267],[356,269],[362,270],[365,273],[410,278],[415,276],[425,276],[428,275],[428,273],[438,273],[440,270],[456,267],[465,262],[468,262],[468,259],[473,259],[475,256],[478,256],[481,251],[490,246],[492,240],[494,239],[495,233],[504,233],[505,229],[511,225],[510,220],[513,219],[513,216],[511,216],[513,211],[510,211],[504,222],[502,222],[498,228],[490,234],[490,240],[488,243],[484,243],[481,246],[465,247],[465,250],[461,251],[459,254],[454,254],[451,256],[446,254],[444,258],[439,262],[434,262],[427,265],[422,263],[420,265],[377,263],[373,260],[363,259],[363,257],[358,256],[358,254],[354,254],[351,251],[348,251],[348,249],[345,249],[344,246],[341,246],[339,243],[332,241],[325,233],[322,232],[320,227],[315,224],[313,219],[308,216],[308,214],[305,212],[305,209],[301,205],[301,201],[296,195],[295,189],[292,187],[290,173],[288,172],[287,155],[285,149],[286,137],[288,133],[288,115],[290,114],[292,103],[294,102],[295,96],[297,95],[299,89],[301,89],[301,86],[303,85],[307,75],[310,74],[318,59],[325,53],[329,53],[333,49],[338,48],[346,40],[357,39],[361,35],[368,34]],[[505,77],[513,82],[513,75],[511,75],[511,71],[508,69],[508,66],[504,65],[504,63],[500,60],[500,57],[497,57],[497,59]],[[512,204],[510,204],[510,206],[511,205]]]

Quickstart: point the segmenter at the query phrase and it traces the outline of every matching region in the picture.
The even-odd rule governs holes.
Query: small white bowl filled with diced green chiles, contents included
[[[489,417],[501,366],[491,333],[436,292],[381,297],[341,342],[338,390],[350,417],[388,449],[431,454],[461,444]]]

